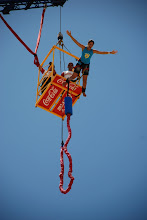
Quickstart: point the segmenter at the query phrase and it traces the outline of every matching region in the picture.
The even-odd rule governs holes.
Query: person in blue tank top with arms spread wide
[[[102,52],[98,50],[92,49],[94,45],[93,40],[88,41],[88,45],[84,46],[83,44],[79,43],[72,35],[71,31],[66,31],[66,33],[71,37],[71,39],[82,49],[81,58],[78,60],[78,63],[74,67],[74,73],[71,77],[67,78],[65,82],[63,82],[63,86],[65,86],[69,81],[75,79],[79,76],[80,71],[82,70],[83,75],[83,86],[82,86],[82,93],[83,96],[86,97],[86,85],[87,85],[87,77],[89,75],[89,66],[90,66],[90,59],[94,53],[96,54],[116,54],[117,50],[112,50],[111,52]]]

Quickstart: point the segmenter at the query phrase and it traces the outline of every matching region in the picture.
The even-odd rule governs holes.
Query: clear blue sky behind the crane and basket
[[[84,45],[94,39],[94,49],[118,50],[92,57],[87,97],[73,108],[68,150],[75,181],[67,195],[59,191],[61,119],[35,108],[34,58],[0,20],[2,220],[147,219],[146,10],[143,0],[69,0],[62,8],[64,43],[73,54],[81,49],[66,30]],[[59,11],[46,10],[40,62],[57,43]],[[35,50],[41,14],[32,9],[4,18]],[[60,74],[58,53],[55,66]],[[67,172],[65,158],[64,188]]]

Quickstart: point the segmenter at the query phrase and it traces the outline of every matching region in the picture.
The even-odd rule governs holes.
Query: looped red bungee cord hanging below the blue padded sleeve
[[[74,181],[74,177],[72,176],[72,158],[70,153],[67,150],[67,145],[71,139],[71,128],[70,128],[70,114],[67,114],[67,129],[68,129],[68,138],[64,144],[63,147],[61,147],[61,151],[60,151],[60,164],[61,164],[61,172],[59,174],[60,177],[60,185],[59,185],[59,189],[61,191],[61,193],[68,193],[71,190],[73,181]],[[64,177],[64,160],[63,160],[63,151],[65,152],[65,154],[67,155],[68,159],[69,159],[69,171],[68,171],[68,176],[70,178],[70,183],[68,184],[68,187],[66,190],[63,189],[63,177]]]

